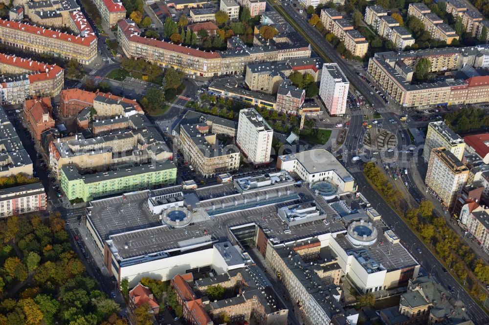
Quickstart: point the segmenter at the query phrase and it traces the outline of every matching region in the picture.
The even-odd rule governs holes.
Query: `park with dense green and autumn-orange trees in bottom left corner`
[[[59,213],[5,218],[0,229],[0,324],[126,324],[72,250]]]

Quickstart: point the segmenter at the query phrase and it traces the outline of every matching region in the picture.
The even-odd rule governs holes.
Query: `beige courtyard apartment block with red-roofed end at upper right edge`
[[[482,67],[486,55],[476,47],[443,48],[406,52],[376,53],[370,58],[369,74],[404,107],[425,109],[430,105],[453,105],[489,101],[489,78],[446,79],[412,84],[416,62],[427,58],[431,72],[457,70],[464,65]]]

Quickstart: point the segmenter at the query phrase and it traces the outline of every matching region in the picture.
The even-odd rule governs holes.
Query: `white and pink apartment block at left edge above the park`
[[[0,190],[0,218],[45,210],[46,205],[46,193],[42,183]]]

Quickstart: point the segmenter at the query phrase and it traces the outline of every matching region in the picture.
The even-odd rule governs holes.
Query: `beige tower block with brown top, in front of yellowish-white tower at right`
[[[425,147],[426,150],[426,147]],[[468,168],[445,147],[433,148],[428,161],[425,184],[447,208],[451,208],[467,183]]]

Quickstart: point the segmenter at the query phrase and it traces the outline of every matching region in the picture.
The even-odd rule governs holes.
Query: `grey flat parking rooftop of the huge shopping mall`
[[[233,242],[233,229],[247,225],[261,227],[274,244],[343,234],[344,224],[367,218],[362,209],[366,200],[361,198],[345,194],[326,202],[308,187],[297,186],[286,171],[273,171],[242,175],[232,183],[196,190],[171,186],[92,201],[87,226],[99,247],[103,249],[109,241],[121,260],[152,254],[172,256],[213,243]],[[284,208],[287,216],[280,213]],[[303,213],[305,210],[309,212]],[[346,250],[355,250],[345,241],[340,242]],[[375,247],[379,252],[372,254],[377,260],[386,260],[383,264],[388,268],[409,260],[404,259],[402,249],[397,251],[390,244]],[[393,254],[400,258],[399,263],[392,259]]]

